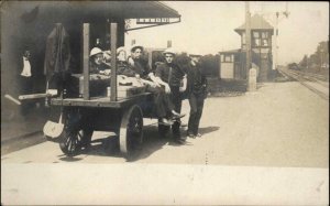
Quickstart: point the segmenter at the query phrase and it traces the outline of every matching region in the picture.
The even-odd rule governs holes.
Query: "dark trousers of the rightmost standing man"
[[[190,116],[188,121],[188,134],[197,134],[199,121],[202,113],[204,107],[204,95],[194,94],[189,95],[189,105],[190,105]]]

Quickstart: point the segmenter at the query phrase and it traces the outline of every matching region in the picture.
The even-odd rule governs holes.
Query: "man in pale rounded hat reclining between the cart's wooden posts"
[[[89,54],[90,74],[110,74],[110,65],[105,63],[103,52],[99,47],[94,47]]]

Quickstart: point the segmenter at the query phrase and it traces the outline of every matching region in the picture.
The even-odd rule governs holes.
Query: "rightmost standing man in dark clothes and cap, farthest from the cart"
[[[199,59],[200,54],[198,52],[190,53],[190,63],[186,67],[187,72],[187,97],[190,105],[190,115],[188,121],[187,135],[189,138],[201,137],[198,132],[199,121],[202,113],[204,100],[207,90],[207,79],[200,71]]]

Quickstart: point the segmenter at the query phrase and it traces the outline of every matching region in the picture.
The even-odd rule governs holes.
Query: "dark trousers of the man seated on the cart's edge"
[[[173,104],[169,95],[161,87],[147,86],[146,91],[154,95],[154,111],[158,118],[167,118],[168,113],[173,110]]]

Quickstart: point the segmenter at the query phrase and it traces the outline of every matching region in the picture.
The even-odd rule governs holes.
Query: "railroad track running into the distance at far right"
[[[322,99],[329,100],[329,79],[327,77],[311,73],[289,71],[287,68],[278,68],[278,72],[284,76],[299,82],[301,85],[320,96]]]

